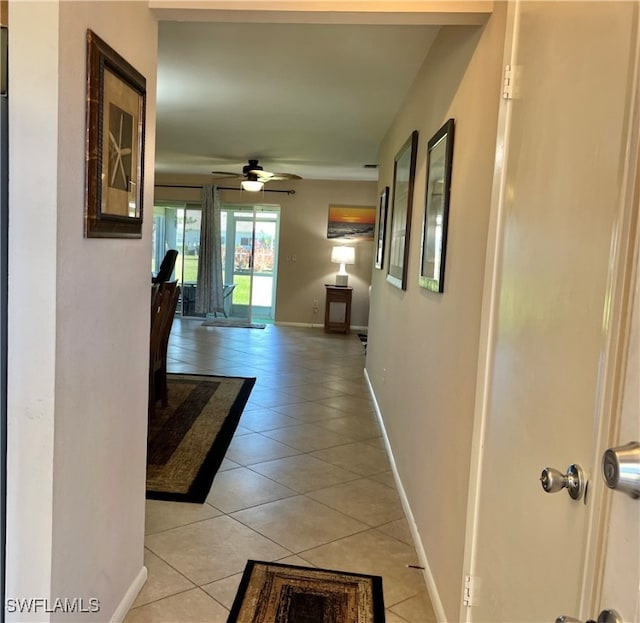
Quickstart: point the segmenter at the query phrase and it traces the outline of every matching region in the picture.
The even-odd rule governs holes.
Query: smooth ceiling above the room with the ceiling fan
[[[258,158],[304,179],[377,179],[364,165],[438,30],[161,21],[156,172],[241,172]]]

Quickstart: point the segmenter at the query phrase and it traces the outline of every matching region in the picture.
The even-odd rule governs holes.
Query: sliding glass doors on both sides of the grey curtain
[[[200,260],[199,204],[166,203],[153,210],[155,273],[169,249],[178,251],[174,279],[182,287],[179,310],[195,316],[195,291]],[[279,206],[225,204],[221,208],[225,314],[232,318],[272,321],[278,258]]]

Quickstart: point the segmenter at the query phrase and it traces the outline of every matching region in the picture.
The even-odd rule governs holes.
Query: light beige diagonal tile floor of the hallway
[[[147,501],[126,623],[225,623],[249,558],[381,575],[387,623],[436,620],[363,367],[354,335],[176,319],[170,372],[257,382],[207,502]]]

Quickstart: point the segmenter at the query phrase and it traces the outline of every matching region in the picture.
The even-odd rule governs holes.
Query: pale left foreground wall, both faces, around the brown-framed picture
[[[147,78],[148,216],[157,27],[142,2],[11,3],[9,23],[7,597],[95,597],[60,620],[106,621],[144,577],[152,219],[83,237],[85,36]]]

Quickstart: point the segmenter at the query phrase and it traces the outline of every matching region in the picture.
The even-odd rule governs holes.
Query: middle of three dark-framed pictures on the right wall
[[[411,207],[417,151],[418,130],[414,130],[396,155],[393,167],[391,241],[387,281],[403,290],[407,289]]]

